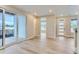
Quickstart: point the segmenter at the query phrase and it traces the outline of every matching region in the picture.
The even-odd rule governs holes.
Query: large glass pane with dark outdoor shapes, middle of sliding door
[[[11,44],[16,41],[16,19],[15,15],[5,13],[5,44]]]

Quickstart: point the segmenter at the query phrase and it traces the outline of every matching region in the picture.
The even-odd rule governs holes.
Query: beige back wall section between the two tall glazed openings
[[[56,38],[56,17],[47,16],[47,38]]]

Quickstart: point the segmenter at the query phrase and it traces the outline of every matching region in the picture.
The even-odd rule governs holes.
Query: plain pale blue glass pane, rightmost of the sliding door
[[[18,16],[18,37],[19,40],[25,40],[26,38],[26,17]]]

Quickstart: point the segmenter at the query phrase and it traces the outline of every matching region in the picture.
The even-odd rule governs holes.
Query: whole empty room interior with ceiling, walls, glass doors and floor
[[[78,5],[0,5],[0,54],[78,54]]]

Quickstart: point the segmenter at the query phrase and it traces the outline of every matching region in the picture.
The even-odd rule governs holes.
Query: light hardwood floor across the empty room
[[[73,54],[73,52],[74,39],[65,37],[35,38],[0,50],[1,54]]]

